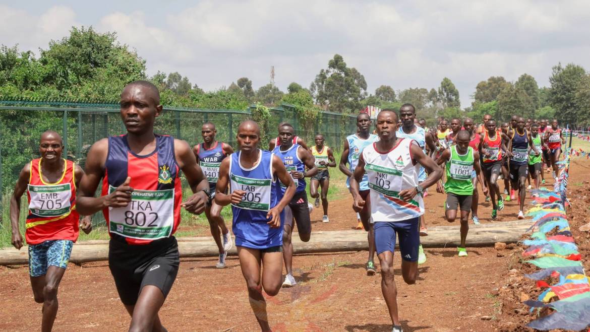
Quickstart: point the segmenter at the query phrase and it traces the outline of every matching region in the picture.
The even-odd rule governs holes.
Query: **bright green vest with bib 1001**
[[[473,147],[467,147],[467,153],[460,155],[457,152],[457,145],[450,147],[451,159],[448,160],[447,182],[444,184],[445,192],[452,192],[455,195],[473,195]]]

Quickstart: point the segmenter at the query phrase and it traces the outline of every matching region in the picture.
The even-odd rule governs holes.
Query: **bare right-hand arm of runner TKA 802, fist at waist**
[[[193,192],[192,196],[182,202],[186,211],[199,214],[205,210],[209,196],[209,182],[205,177],[201,166],[196,162],[195,155],[186,141],[174,139],[174,153],[176,163],[186,177],[189,187]],[[205,190],[205,191],[204,191]]]

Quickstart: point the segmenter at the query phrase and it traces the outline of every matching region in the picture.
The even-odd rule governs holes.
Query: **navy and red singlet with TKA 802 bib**
[[[122,185],[127,176],[134,191],[125,208],[103,209],[104,219],[110,236],[127,244],[168,238],[181,221],[181,170],[174,155],[174,138],[155,136],[156,149],[145,156],[131,151],[127,135],[109,137],[102,195]]]

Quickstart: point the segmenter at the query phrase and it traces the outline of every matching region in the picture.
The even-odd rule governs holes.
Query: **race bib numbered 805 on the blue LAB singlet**
[[[249,177],[230,175],[231,189],[244,190],[245,194],[236,208],[268,211],[270,209],[271,179],[250,179]]]

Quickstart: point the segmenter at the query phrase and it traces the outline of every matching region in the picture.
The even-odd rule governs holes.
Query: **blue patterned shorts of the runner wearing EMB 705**
[[[67,268],[74,242],[70,240],[48,240],[29,245],[29,273],[39,277],[47,273],[50,265]]]

